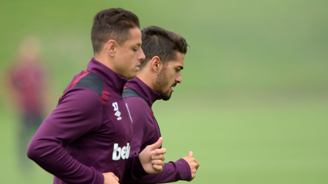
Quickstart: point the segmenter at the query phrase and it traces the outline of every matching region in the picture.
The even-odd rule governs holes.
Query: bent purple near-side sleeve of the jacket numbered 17
[[[74,89],[66,93],[36,131],[28,157],[66,183],[103,184],[102,173],[83,165],[65,150],[66,145],[100,127],[101,113],[96,92]]]

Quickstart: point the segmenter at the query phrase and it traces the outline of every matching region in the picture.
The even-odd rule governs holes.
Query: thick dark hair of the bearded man
[[[176,59],[176,52],[187,53],[187,41],[181,35],[157,26],[149,26],[141,30],[142,45],[146,59],[141,61],[143,68],[154,56],[158,56],[164,65]]]

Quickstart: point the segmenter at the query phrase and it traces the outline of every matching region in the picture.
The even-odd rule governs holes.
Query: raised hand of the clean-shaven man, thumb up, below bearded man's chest
[[[165,148],[157,149],[162,145],[163,138],[160,137],[154,144],[148,145],[139,154],[139,160],[143,169],[148,174],[160,173],[163,170],[163,154],[166,153]]]

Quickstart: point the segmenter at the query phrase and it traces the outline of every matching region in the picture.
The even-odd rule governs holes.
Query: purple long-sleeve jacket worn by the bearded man
[[[144,98],[137,96],[124,98],[124,102],[129,106],[133,125],[130,154],[138,154],[147,145],[155,143],[160,137],[152,105],[157,99],[161,99],[161,96],[138,77],[129,80],[125,85],[138,92]],[[169,183],[190,179],[191,169],[188,162],[184,159],[179,159],[176,162],[164,163],[163,171],[158,174],[146,175],[141,179],[135,180],[127,179],[124,183]]]

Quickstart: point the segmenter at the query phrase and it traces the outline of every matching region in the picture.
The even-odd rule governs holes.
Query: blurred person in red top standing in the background
[[[18,57],[8,71],[10,96],[21,116],[19,125],[19,154],[21,166],[30,162],[26,150],[44,118],[46,103],[46,74],[41,64],[40,44],[35,38],[25,39]]]

